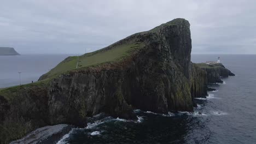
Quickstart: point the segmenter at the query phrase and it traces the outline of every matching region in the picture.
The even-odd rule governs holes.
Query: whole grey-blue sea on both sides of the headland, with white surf
[[[0,87],[36,81],[67,55],[0,57]],[[72,129],[58,143],[256,143],[256,55],[192,55],[195,63],[220,61],[236,74],[212,84],[193,113],[161,115],[135,110],[138,121],[106,117]]]

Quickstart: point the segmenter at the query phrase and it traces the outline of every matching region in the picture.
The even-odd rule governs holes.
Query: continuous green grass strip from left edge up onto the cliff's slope
[[[93,65],[98,65],[104,62],[115,62],[129,56],[133,50],[144,47],[143,43],[132,43],[123,44],[104,49],[86,53],[85,55],[79,56],[78,68],[85,68]],[[74,70],[77,67],[77,56],[66,58],[64,61],[59,63],[55,68],[51,69],[48,73],[42,76],[42,80],[34,83],[28,83],[21,86],[14,86],[8,88],[0,88],[0,95],[3,95],[6,99],[10,99],[17,92],[26,88],[36,88],[47,86],[51,79],[60,74],[67,73],[70,70]]]

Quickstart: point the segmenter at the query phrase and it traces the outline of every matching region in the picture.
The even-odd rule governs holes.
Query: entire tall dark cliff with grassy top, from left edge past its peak
[[[0,140],[43,125],[86,125],[100,112],[193,111],[207,95],[207,72],[190,62],[190,24],[174,19],[104,49],[68,57],[36,83],[0,89]],[[78,65],[78,68],[76,68]]]

